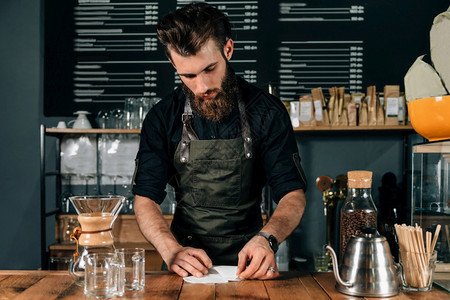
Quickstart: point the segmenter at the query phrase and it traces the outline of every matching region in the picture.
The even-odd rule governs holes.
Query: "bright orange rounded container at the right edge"
[[[408,102],[414,130],[430,142],[450,139],[450,95]]]

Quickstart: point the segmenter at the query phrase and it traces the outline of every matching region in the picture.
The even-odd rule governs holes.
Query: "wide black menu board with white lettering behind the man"
[[[123,107],[127,97],[163,97],[180,83],[156,23],[191,1],[44,1],[44,114]],[[315,87],[346,92],[403,85],[429,53],[433,18],[448,0],[208,1],[228,14],[236,73],[282,100]]]

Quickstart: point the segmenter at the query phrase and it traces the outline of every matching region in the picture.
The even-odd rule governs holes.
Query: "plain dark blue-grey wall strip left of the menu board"
[[[41,4],[0,1],[0,269],[40,267]]]

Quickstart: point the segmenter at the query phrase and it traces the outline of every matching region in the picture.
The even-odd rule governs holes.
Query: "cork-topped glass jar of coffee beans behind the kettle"
[[[377,209],[372,200],[372,172],[347,172],[347,199],[341,208],[340,258],[352,235],[363,234],[363,227],[377,228]]]

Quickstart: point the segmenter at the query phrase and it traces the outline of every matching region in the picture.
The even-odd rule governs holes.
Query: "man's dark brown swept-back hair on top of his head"
[[[169,59],[169,50],[181,56],[195,55],[210,38],[222,50],[231,36],[227,15],[204,2],[169,13],[158,22],[156,30]]]

